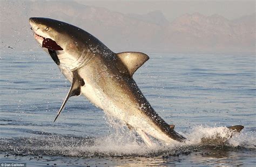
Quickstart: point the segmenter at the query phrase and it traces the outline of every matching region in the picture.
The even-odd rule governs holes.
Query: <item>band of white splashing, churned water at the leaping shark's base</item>
[[[0,151],[17,155],[60,155],[69,157],[119,157],[119,156],[175,156],[191,151],[210,150],[255,150],[254,130],[243,130],[224,144],[201,144],[201,138],[225,135],[225,127],[197,126],[183,133],[189,139],[185,143],[163,146],[159,142],[149,148],[133,132],[116,130],[102,137],[82,137],[38,133],[30,137],[2,138]]]

